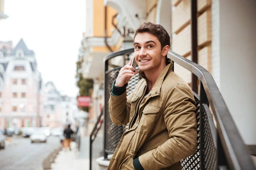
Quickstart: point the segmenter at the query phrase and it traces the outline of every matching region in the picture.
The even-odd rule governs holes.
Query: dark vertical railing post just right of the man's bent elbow
[[[200,168],[201,170],[206,170],[205,167],[205,148],[204,148],[204,109],[203,109],[203,103],[206,103],[209,106],[209,102],[204,90],[204,86],[202,82],[200,81]]]

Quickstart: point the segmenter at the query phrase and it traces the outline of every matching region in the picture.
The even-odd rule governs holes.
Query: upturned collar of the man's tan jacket
[[[154,87],[149,92],[149,96],[158,96],[160,94],[160,89],[163,84],[163,79],[166,77],[166,74],[168,74],[169,72],[172,72],[172,67],[173,67],[172,60],[167,58],[166,64],[167,64],[166,67],[163,69],[163,71],[160,73],[159,77],[157,78],[157,81],[154,84]],[[140,73],[140,76],[143,79],[145,79],[145,82],[143,83],[143,85],[147,85],[148,81],[147,81],[147,77],[145,76],[145,73],[143,71],[140,71],[139,73]]]

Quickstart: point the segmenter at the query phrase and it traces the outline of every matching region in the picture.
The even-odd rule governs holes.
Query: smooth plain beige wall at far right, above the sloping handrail
[[[256,144],[256,1],[219,0],[221,94],[245,144]]]

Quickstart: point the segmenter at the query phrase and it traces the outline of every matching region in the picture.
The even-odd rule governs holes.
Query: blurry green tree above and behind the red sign
[[[93,79],[84,79],[81,73],[81,64],[84,59],[79,55],[78,61],[76,62],[76,85],[79,88],[79,96],[90,96],[91,90],[93,89]],[[89,108],[80,107],[82,111],[89,111]]]

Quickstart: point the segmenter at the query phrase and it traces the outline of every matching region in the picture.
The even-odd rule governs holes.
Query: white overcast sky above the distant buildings
[[[23,38],[35,52],[43,81],[76,96],[76,60],[85,31],[85,0],[5,0],[0,41]]]

